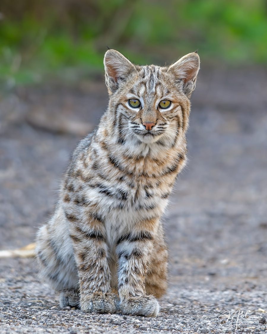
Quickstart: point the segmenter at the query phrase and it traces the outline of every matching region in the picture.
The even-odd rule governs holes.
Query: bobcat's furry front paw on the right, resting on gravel
[[[123,314],[156,317],[159,310],[160,305],[154,296],[129,297],[119,303],[119,311]]]

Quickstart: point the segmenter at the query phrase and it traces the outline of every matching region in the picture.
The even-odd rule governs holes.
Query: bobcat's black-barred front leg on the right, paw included
[[[145,286],[157,225],[157,218],[141,221],[117,241],[119,310],[124,314],[155,317],[159,313],[157,299],[146,293]]]

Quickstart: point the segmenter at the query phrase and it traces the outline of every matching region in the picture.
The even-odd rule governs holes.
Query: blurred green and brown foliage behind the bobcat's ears
[[[139,63],[196,49],[204,60],[267,59],[265,0],[2,1],[0,74],[10,86],[102,69],[106,45]]]

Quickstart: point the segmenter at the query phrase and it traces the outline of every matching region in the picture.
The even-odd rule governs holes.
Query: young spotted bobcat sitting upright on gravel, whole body
[[[168,259],[160,219],[186,163],[199,64],[194,52],[169,67],[106,52],[108,109],[74,151],[55,213],[37,236],[42,276],[61,307],[158,314]]]

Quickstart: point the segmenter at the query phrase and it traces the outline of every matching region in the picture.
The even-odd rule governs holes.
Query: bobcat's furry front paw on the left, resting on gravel
[[[117,311],[117,296],[111,293],[94,292],[83,295],[80,299],[83,312],[114,313]]]

